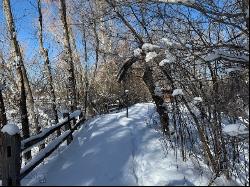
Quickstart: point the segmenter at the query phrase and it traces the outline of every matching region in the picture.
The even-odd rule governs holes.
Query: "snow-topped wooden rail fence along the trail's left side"
[[[75,111],[71,114],[64,113],[64,119],[43,130],[40,134],[31,136],[30,138],[21,140],[20,134],[9,135],[8,133],[0,132],[1,144],[1,163],[2,169],[2,185],[3,186],[20,186],[20,181],[27,176],[36,166],[38,166],[45,158],[53,153],[65,140],[67,145],[73,140],[73,132],[81,126],[85,121],[81,111]],[[77,119],[78,118],[78,119]],[[49,142],[43,149],[29,160],[26,165],[21,168],[22,154],[31,150],[45,142],[54,132],[61,130],[64,127],[64,132],[54,140]]]

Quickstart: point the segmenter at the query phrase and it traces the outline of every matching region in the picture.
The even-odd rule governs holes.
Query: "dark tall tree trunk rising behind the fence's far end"
[[[60,15],[61,21],[63,23],[63,45],[65,50],[65,62],[67,64],[68,71],[68,90],[69,90],[69,101],[70,101],[70,110],[74,111],[77,106],[76,101],[76,82],[75,82],[75,74],[74,74],[74,63],[73,63],[73,55],[70,45],[69,38],[69,28],[67,24],[67,13],[66,13],[66,4],[65,0],[60,0]]]

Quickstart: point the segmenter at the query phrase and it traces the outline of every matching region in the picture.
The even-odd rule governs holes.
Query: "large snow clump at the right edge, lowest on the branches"
[[[249,134],[248,129],[240,123],[226,125],[222,132],[229,136],[240,136],[240,135],[247,135]]]

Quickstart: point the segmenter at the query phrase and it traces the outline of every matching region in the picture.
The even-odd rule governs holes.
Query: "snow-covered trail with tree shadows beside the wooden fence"
[[[68,147],[51,156],[22,185],[207,185],[191,162],[165,155],[161,134],[148,123],[153,104],[136,104],[83,126]],[[219,181],[223,184],[223,181]]]

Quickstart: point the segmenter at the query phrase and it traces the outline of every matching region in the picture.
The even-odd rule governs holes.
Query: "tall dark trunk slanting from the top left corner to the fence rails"
[[[16,38],[15,25],[13,21],[9,0],[3,0],[3,8],[7,21],[8,31],[10,33],[11,44],[12,47],[14,48],[14,53],[16,58],[16,72],[18,78],[18,88],[20,92],[20,113],[21,113],[22,132],[23,132],[23,138],[26,139],[30,137],[30,132],[29,132],[29,120],[28,120],[28,111],[26,103],[26,92],[25,92],[24,78],[22,73],[22,68],[24,68],[23,58]],[[31,151],[26,152],[24,157],[26,160],[29,160],[31,158]]]

